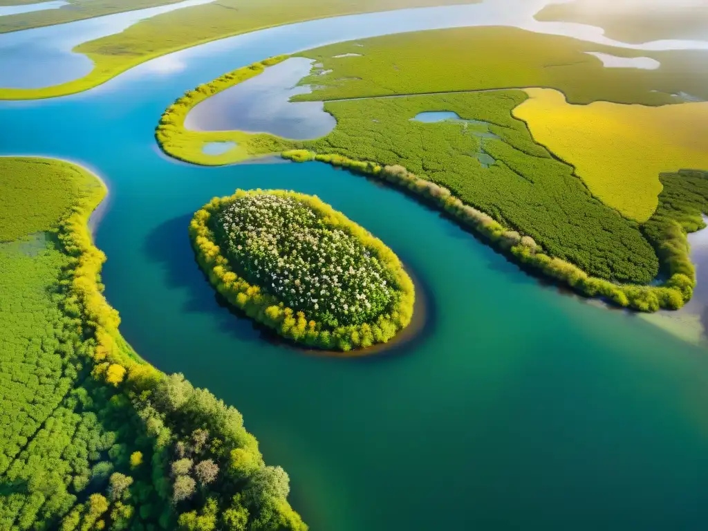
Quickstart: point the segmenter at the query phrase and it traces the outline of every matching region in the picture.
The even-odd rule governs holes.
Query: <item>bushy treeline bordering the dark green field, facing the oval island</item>
[[[404,188],[429,204],[444,210],[452,219],[490,241],[498,250],[514,258],[520,265],[554,278],[585,297],[601,297],[619,307],[628,307],[640,312],[656,312],[658,309],[678,309],[692,296],[695,278],[691,278],[678,268],[670,268],[669,278],[661,286],[617,284],[588,275],[577,265],[560,258],[552,258],[544,253],[542,247],[532,237],[522,236],[504,227],[484,212],[465,205],[447,188],[421,179],[403,166],[380,166],[370,161],[355,161],[341,155],[316,154],[304,150],[285,152],[283,156],[297,162],[326,162],[376,176],[399,188]]]

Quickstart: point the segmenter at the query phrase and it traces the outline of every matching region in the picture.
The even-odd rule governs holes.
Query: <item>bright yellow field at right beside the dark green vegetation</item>
[[[656,209],[660,173],[708,168],[708,103],[569,105],[557,91],[526,92],[514,116],[573,164],[595,196],[638,222]]]

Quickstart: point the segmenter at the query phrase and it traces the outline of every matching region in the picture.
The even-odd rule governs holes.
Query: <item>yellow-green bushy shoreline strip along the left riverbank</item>
[[[218,472],[222,481],[230,481],[229,474],[232,472],[229,472],[222,461],[228,459],[224,456],[232,455],[232,452],[250,459],[249,463],[252,465],[250,472],[238,472],[241,474],[241,486],[238,489],[249,486],[258,471],[273,470],[273,467],[266,467],[256,438],[244,428],[241,413],[233,406],[219,401],[207,389],[193,387],[183,375],[167,375],[161,372],[141,358],[121,336],[118,330],[118,312],[108,304],[103,295],[100,273],[106,256],[93,244],[89,230],[89,218],[108,193],[103,180],[86,167],[69,161],[38,156],[4,158],[18,162],[43,162],[81,178],[81,188],[76,201],[51,229],[56,235],[57,251],[68,257],[67,264],[62,267],[57,277],[61,293],[57,300],[57,309],[62,312],[64,318],[70,319],[76,325],[80,341],[77,348],[84,367],[89,371],[88,377],[99,385],[117,388],[125,400],[125,406],[134,409],[134,414],[142,419],[142,424],[135,430],[135,437],[147,438],[152,447],[152,481],[156,481],[156,478],[162,481],[156,485],[155,496],[159,498],[159,503],[164,503],[166,507],[166,512],[160,518],[165,518],[164,522],[169,524],[169,528],[176,529],[178,524],[183,525],[183,520],[188,521],[197,514],[196,510],[181,512],[180,509],[190,506],[172,503],[173,485],[169,474],[169,459],[175,445],[183,443],[184,433],[192,433],[194,428],[205,428],[212,437],[222,441],[224,455],[219,457]],[[185,401],[197,395],[200,397],[190,406],[192,417],[180,416],[178,406],[166,405],[160,401],[160,394],[164,394],[171,386],[181,389]],[[157,398],[151,401],[154,394]],[[287,475],[285,478],[287,479]],[[227,486],[225,494],[233,494],[234,489],[236,487]],[[228,508],[232,503],[230,495],[214,499],[218,504],[215,505],[216,508],[221,506],[221,510],[232,510]],[[249,505],[249,508],[253,509],[253,518],[258,518],[261,508],[265,505],[265,501],[253,501]],[[269,518],[278,520],[282,525],[280,528],[307,531],[307,525],[287,501],[287,493],[273,498],[271,506],[265,507],[265,510],[270,511]],[[73,514],[67,515],[66,518],[73,518]]]

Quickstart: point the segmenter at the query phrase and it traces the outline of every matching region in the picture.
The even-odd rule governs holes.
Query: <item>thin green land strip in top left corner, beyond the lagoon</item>
[[[48,0],[45,0],[48,1]],[[96,16],[113,15],[124,11],[177,4],[182,0],[67,0],[69,3],[57,9],[31,11],[0,17],[0,33],[41,28],[42,26],[83,21]],[[38,0],[0,0],[0,6],[37,4]]]

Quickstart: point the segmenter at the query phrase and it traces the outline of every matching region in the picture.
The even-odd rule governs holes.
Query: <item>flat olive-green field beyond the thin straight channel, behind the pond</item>
[[[363,45],[363,46],[360,46]],[[656,70],[612,69],[585,52],[648,56]],[[344,54],[362,57],[335,57]],[[685,91],[708,99],[708,51],[638,52],[515,28],[454,28],[386,35],[302,52],[328,74],[311,76],[323,88],[297,100],[391,94],[547,87],[571,103],[676,103]]]

